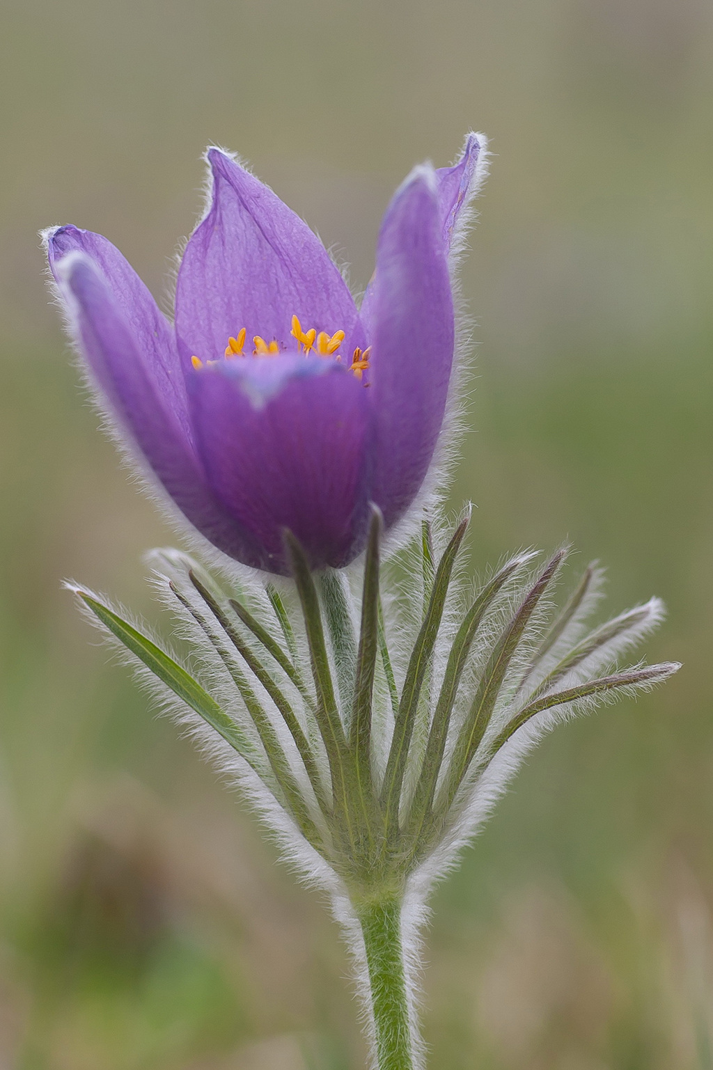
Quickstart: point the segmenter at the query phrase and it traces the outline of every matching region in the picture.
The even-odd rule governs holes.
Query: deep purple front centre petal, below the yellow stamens
[[[284,361],[282,389],[256,404],[252,387]],[[192,383],[208,482],[264,547],[261,567],[271,571],[285,570],[285,528],[313,567],[338,568],[361,551],[367,524],[368,392],[332,361],[302,356],[301,366],[247,357],[200,369]]]

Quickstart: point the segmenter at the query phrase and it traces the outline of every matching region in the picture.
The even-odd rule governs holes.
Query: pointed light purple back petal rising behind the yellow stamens
[[[266,185],[218,149],[208,160],[213,201],[179,270],[176,328],[184,362],[223,355],[228,338],[291,341],[305,331],[346,332],[343,352],[364,345],[349,289],[321,242]]]

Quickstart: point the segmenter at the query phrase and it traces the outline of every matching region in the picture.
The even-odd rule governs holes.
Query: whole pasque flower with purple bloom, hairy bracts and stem
[[[587,624],[594,565],[552,613],[565,549],[540,564],[519,553],[471,587],[468,517],[450,525],[433,509],[398,549],[384,544],[418,516],[438,453],[454,250],[483,146],[470,135],[454,167],[419,167],[397,190],[359,309],[305,224],[217,149],[175,326],[106,239],[47,236],[91,378],[160,484],[225,553],[294,581],[217,577],[157,551],[186,663],[72,590],[330,895],[378,1070],[424,1066],[427,898],[524,755],[562,720],[679,668],[621,664],[661,621],[658,599]]]

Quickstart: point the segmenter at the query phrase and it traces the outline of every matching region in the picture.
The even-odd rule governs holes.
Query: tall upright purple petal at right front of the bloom
[[[433,168],[415,168],[389,207],[377,274],[373,498],[389,528],[415,498],[430,464],[453,364],[453,297]]]

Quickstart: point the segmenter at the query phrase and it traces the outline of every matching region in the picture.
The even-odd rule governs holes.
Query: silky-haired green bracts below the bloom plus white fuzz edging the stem
[[[566,547],[544,564],[520,551],[473,583],[461,545],[469,520],[469,509],[453,522],[439,513],[380,562],[375,513],[359,570],[315,580],[298,544],[291,584],[252,570],[216,575],[182,551],[153,551],[151,582],[187,660],[123,609],[67,584],[158,708],[239,789],[301,881],[329,897],[375,1068],[389,1030],[375,1011],[364,904],[398,900],[400,1028],[420,1070],[422,933],[435,884],[545,733],[679,668],[620,668],[664,608],[654,598],[591,628],[596,564],[557,609]],[[345,640],[353,644],[346,659]]]

